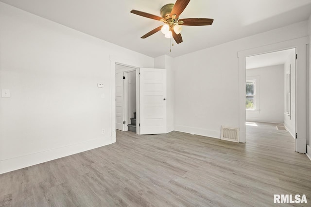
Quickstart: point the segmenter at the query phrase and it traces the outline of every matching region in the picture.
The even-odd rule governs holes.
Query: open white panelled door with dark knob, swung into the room
[[[140,134],[166,133],[166,70],[140,68]]]

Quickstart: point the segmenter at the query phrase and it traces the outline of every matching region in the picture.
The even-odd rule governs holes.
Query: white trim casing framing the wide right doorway
[[[246,57],[276,52],[280,50],[296,49],[296,133],[295,151],[306,153],[306,45],[308,36],[266,45],[258,48],[238,52],[239,58],[239,128],[240,142],[245,142],[245,82],[246,82]]]

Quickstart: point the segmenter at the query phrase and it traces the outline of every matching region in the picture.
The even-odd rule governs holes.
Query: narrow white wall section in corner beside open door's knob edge
[[[173,58],[168,55],[162,55],[155,58],[155,68],[166,69],[167,91],[167,132],[174,130],[174,69]]]

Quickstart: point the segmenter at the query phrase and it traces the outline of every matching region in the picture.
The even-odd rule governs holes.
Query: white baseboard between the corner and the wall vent
[[[209,138],[218,138],[218,139],[220,139],[220,134],[221,134],[220,130],[215,131],[215,130],[208,130],[208,129],[190,127],[190,126],[181,126],[181,125],[174,125],[174,131],[185,132],[189,134],[200,135],[200,136],[209,137]]]

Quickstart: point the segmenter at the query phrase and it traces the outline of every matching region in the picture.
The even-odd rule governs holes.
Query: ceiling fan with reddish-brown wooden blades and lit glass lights
[[[141,38],[146,38],[150,35],[155,34],[156,32],[160,31],[165,34],[165,37],[167,38],[174,38],[177,44],[181,43],[183,41],[181,37],[181,25],[184,26],[204,26],[204,25],[211,25],[214,21],[214,19],[211,18],[183,18],[179,19],[179,15],[184,11],[186,6],[188,5],[190,0],[176,0],[175,4],[169,3],[164,5],[160,9],[161,17],[148,14],[145,12],[140,12],[137,10],[132,10],[131,13],[152,18],[158,21],[162,21],[165,23],[163,26],[159,26],[155,28],[154,30],[150,31],[146,35],[143,35]]]

